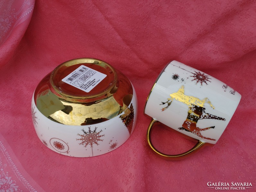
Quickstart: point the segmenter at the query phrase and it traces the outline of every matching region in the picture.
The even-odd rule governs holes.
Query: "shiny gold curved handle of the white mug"
[[[154,123],[157,123],[157,122],[158,121],[152,119],[150,124],[149,124],[149,126],[148,126],[148,129],[147,129],[147,142],[148,142],[150,148],[152,148],[154,152],[156,152],[157,154],[159,154],[161,156],[168,157],[168,159],[171,159],[171,160],[177,160],[177,159],[180,159],[182,157],[185,157],[185,156],[187,156],[187,155],[197,151],[200,147],[202,147],[205,144],[204,142],[198,140],[198,143],[193,148],[191,148],[190,150],[188,150],[185,153],[181,153],[181,154],[178,154],[178,155],[167,155],[167,154],[161,153],[156,148],[154,148],[154,146],[151,143],[151,139],[150,139],[151,128],[154,125]]]

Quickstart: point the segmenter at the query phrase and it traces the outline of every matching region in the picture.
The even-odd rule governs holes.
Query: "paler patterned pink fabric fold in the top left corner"
[[[15,48],[30,22],[34,0],[0,1],[0,62],[1,65],[14,54]]]

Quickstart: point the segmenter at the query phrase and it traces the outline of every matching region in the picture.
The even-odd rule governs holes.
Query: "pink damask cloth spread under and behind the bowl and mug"
[[[255,1],[2,0],[0,11],[1,192],[8,186],[9,191],[211,192],[217,190],[207,188],[207,182],[219,181],[251,182],[244,191],[256,190]],[[31,120],[39,81],[62,62],[81,57],[122,71],[138,97],[137,126],[128,141],[91,158],[46,148]],[[179,161],[150,150],[150,119],[143,114],[155,79],[171,60],[214,76],[242,95],[216,145]],[[195,144],[166,128],[153,135],[166,153]]]

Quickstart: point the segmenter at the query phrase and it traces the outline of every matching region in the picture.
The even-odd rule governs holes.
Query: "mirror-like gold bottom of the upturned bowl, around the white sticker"
[[[107,74],[105,82],[102,81],[102,85],[97,85],[90,93],[61,82],[62,73],[69,73],[81,64]],[[66,125],[107,121],[126,111],[132,97],[133,88],[126,76],[101,60],[86,58],[59,65],[39,83],[34,94],[36,107],[44,116]]]

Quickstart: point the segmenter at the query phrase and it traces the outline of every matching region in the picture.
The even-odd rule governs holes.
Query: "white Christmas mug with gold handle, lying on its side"
[[[159,155],[177,158],[196,151],[205,143],[215,144],[233,116],[241,95],[231,87],[178,61],[166,65],[154,83],[144,113],[152,117],[149,146]],[[151,143],[154,123],[160,122],[199,142],[189,151],[167,155]]]

